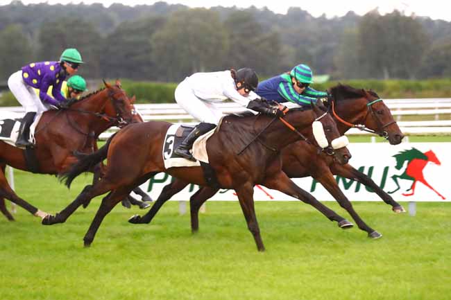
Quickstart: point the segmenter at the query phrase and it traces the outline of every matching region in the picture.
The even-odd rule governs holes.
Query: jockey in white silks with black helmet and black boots
[[[194,73],[180,82],[175,92],[176,102],[201,123],[188,134],[185,141],[182,141],[174,152],[195,161],[189,152],[194,141],[216,127],[222,117],[221,110],[214,103],[230,99],[256,112],[282,116],[283,112],[279,109],[267,103],[255,101],[259,99],[259,96],[254,93],[257,85],[257,74],[249,68],[238,71],[231,69],[212,73]]]

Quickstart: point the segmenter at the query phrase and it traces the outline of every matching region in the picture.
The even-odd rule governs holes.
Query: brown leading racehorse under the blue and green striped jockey
[[[340,134],[345,134],[350,127],[355,127],[351,123],[363,124],[370,131],[380,136],[386,136],[393,145],[401,142],[402,132],[400,132],[398,125],[393,120],[389,108],[379,100],[380,97],[373,91],[354,89],[347,85],[337,85],[332,87],[330,92],[334,97],[334,108],[332,109],[332,103],[328,103],[328,105],[330,105],[330,109],[335,115]],[[371,153],[368,153],[368,155],[371,155]],[[370,238],[380,238],[382,235],[361,220],[352,208],[348,198],[339,188],[333,175],[355,179],[373,188],[373,191],[380,195],[386,204],[390,204],[393,207],[393,211],[396,213],[405,212],[404,208],[398,202],[395,202],[390,195],[382,191],[370,177],[359,172],[350,164],[338,164],[330,155],[318,153],[313,145],[305,141],[291,143],[282,149],[282,170],[290,178],[312,176],[320,182],[334,196],[341,207],[348,211],[359,229],[366,231]],[[153,204],[151,210],[148,211],[148,222],[153,219],[164,202],[179,191],[182,191],[187,184],[187,182],[176,179],[171,184],[164,186],[158,200]],[[203,187],[192,195],[190,199],[192,231],[198,231],[198,211],[201,205],[218,190],[218,188]],[[134,222],[134,217],[130,220]]]

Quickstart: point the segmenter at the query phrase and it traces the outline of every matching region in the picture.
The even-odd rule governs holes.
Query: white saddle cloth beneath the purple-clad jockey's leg
[[[15,145],[19,136],[20,122],[24,114],[17,112],[1,112],[0,114],[0,140],[10,145]],[[30,141],[35,143],[35,129],[42,113],[36,114],[35,121],[30,126]]]

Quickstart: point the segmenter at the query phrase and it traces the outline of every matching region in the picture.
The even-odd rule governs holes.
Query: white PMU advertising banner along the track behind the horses
[[[451,200],[451,143],[351,143],[348,149],[352,155],[350,165],[371,177],[397,202]],[[371,188],[359,182],[338,176],[335,179],[351,201],[382,201]],[[159,173],[141,188],[156,200],[171,180],[171,176]],[[312,177],[294,178],[293,182],[320,201],[334,201]],[[171,200],[188,201],[198,188],[190,184]],[[255,186],[254,191],[256,201],[298,201],[264,186]],[[235,191],[223,189],[211,200],[236,201],[238,197]]]

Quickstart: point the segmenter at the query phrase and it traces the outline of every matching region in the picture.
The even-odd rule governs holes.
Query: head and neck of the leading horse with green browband
[[[374,91],[337,85],[330,93],[334,98],[332,112],[339,122],[384,136],[391,145],[401,143],[404,134],[389,107]]]

